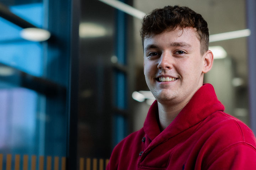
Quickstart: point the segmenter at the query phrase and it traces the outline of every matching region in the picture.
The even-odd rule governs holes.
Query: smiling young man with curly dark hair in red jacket
[[[224,113],[213,86],[207,22],[188,7],[143,18],[146,83],[156,98],[141,130],[113,150],[107,170],[256,169],[256,139]]]

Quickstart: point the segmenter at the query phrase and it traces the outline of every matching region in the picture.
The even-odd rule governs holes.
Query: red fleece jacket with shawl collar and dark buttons
[[[253,132],[223,111],[204,84],[160,132],[155,101],[143,128],[114,148],[107,170],[256,170]]]

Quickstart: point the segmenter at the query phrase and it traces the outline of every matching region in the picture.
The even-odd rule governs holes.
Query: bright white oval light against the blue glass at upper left
[[[41,28],[25,28],[21,30],[21,37],[29,41],[46,41],[50,38],[50,32]]]

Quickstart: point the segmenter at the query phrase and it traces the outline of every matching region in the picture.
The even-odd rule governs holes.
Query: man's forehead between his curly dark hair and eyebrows
[[[160,34],[155,34],[144,39],[144,51],[154,45],[161,47],[170,45],[199,47],[200,40],[198,33],[193,28],[176,28],[175,30],[166,30]]]

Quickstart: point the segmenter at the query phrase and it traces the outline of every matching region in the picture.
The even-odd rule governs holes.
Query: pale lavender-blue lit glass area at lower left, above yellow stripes
[[[0,153],[38,153],[36,92],[0,89]]]

